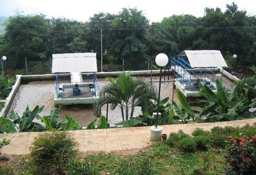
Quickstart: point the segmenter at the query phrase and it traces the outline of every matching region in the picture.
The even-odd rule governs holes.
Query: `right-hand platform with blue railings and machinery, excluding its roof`
[[[215,85],[215,68],[192,68],[189,61],[182,57],[171,57],[172,69],[175,71],[175,86],[185,97],[197,97],[199,83],[208,86],[213,91]]]

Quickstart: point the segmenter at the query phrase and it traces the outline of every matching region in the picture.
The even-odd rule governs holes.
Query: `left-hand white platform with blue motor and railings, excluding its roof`
[[[54,104],[94,104],[99,99],[98,91],[96,73],[70,73],[68,78],[56,73]]]

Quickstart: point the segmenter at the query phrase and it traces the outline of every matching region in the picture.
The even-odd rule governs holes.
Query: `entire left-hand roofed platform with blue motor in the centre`
[[[53,54],[52,73],[56,74],[55,105],[97,102],[99,86],[96,72],[96,53]],[[70,73],[70,77],[64,77],[63,73]]]

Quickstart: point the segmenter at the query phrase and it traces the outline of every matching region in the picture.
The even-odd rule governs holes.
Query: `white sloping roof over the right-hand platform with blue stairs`
[[[178,56],[185,55],[192,68],[228,67],[219,50],[184,50]]]

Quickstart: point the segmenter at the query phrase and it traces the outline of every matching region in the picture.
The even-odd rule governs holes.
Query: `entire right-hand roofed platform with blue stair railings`
[[[185,97],[198,97],[199,83],[216,91],[215,69],[228,67],[219,50],[184,50],[171,62],[175,86]]]

